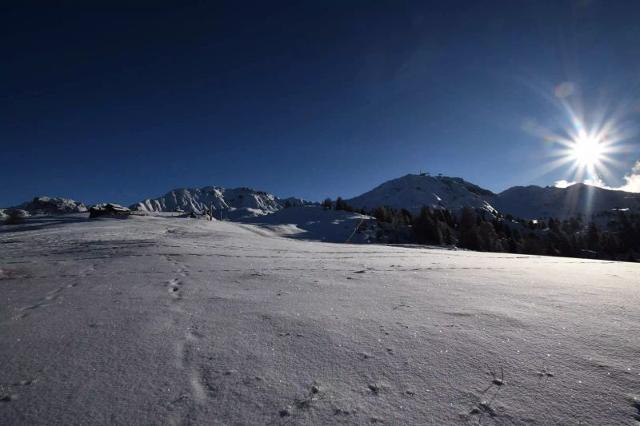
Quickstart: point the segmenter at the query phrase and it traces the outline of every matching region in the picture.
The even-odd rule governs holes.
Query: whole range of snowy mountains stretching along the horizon
[[[640,194],[603,189],[585,184],[567,188],[515,186],[494,193],[458,177],[408,174],[393,179],[346,202],[354,208],[372,210],[379,206],[418,212],[423,206],[449,210],[471,207],[488,213],[511,214],[524,219],[558,218],[576,215],[592,217],[616,210],[640,212]],[[203,213],[212,208],[222,219],[239,220],[275,213],[285,207],[317,205],[301,198],[279,198],[251,188],[174,189],[163,196],[147,198],[130,206],[146,212]],[[36,197],[14,209],[30,214],[59,214],[87,211],[84,204],[65,198]],[[5,213],[0,209],[0,217]]]

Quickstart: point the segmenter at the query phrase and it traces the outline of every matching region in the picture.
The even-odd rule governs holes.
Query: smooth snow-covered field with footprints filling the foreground
[[[610,424],[640,265],[170,217],[0,226],[0,424]]]

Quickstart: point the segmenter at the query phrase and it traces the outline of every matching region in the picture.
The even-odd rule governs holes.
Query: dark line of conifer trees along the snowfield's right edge
[[[458,212],[423,207],[355,209],[341,197],[327,198],[325,209],[368,214],[380,225],[378,238],[389,242],[446,245],[476,251],[640,260],[640,214],[617,211],[584,223],[582,218],[526,220],[465,207]]]

